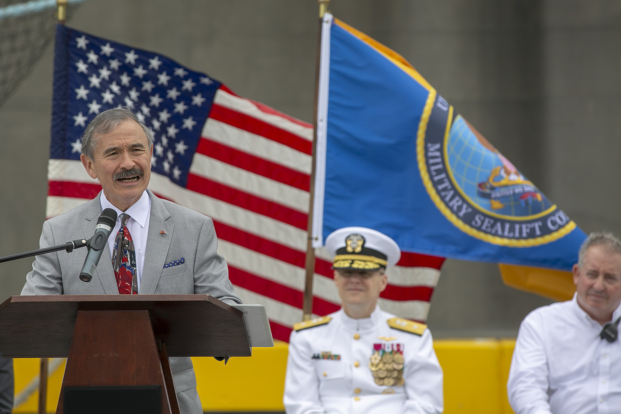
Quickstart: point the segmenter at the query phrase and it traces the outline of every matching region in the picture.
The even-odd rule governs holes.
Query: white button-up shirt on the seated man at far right
[[[612,316],[621,316],[621,306]],[[621,413],[621,341],[600,338],[576,295],[529,313],[517,335],[507,394],[516,414]]]

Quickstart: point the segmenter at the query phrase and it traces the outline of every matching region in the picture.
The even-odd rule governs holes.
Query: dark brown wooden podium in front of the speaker
[[[0,305],[0,352],[68,358],[57,414],[97,395],[146,398],[148,412],[178,414],[168,357],[250,356],[252,348],[242,312],[209,295],[50,295]]]

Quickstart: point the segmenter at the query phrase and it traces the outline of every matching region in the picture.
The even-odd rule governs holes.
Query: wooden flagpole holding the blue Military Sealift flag
[[[319,30],[317,30],[317,57],[315,58],[315,100],[313,107],[313,141],[312,141],[312,166],[311,166],[311,197],[309,197],[308,238],[306,242],[306,281],[304,283],[304,304],[302,305],[302,320],[312,318],[312,279],[315,274],[315,250],[312,247],[312,213],[315,198],[315,152],[317,146],[317,100],[319,99],[319,61],[321,57],[321,31],[324,14],[328,11],[330,0],[317,0],[319,2]]]

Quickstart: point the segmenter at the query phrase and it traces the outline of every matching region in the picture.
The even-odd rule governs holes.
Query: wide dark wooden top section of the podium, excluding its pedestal
[[[66,357],[78,311],[124,310],[148,311],[168,356],[251,354],[242,312],[209,295],[11,296],[0,305],[0,352],[6,358]]]

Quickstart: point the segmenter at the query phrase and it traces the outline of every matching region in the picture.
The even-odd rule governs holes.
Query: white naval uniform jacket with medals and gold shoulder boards
[[[395,315],[379,307],[370,318],[353,319],[343,310],[329,317],[328,323],[291,333],[284,386],[288,414],[442,413],[442,368],[428,329],[416,335],[391,328],[388,320]],[[401,368],[396,377],[388,371],[391,386],[378,385],[384,380],[374,377],[384,353],[394,358],[382,362],[388,358]]]

